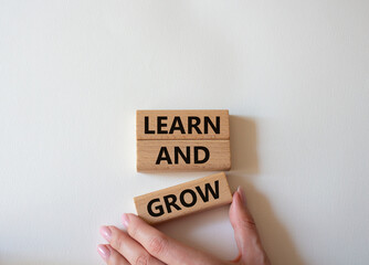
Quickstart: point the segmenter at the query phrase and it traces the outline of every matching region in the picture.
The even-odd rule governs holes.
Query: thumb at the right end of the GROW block
[[[246,264],[267,264],[267,256],[241,187],[233,194],[230,220],[242,261]]]

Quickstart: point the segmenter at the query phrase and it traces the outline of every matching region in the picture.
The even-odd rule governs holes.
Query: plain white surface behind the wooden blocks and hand
[[[274,264],[369,263],[369,2],[0,1],[0,264],[103,264],[136,109],[225,108],[229,181]],[[160,230],[236,255],[228,208]]]

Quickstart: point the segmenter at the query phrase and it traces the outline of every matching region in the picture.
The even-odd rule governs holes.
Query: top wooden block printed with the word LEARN
[[[228,110],[137,110],[137,140],[229,140]]]

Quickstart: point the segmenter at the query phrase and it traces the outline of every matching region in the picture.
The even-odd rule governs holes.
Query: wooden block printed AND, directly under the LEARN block
[[[229,140],[138,140],[137,171],[230,170]]]

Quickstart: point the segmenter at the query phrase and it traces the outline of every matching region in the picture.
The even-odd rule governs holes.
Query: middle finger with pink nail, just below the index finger
[[[101,233],[110,243],[110,246],[120,253],[129,264],[162,265],[160,261],[152,257],[140,244],[122,230],[115,226],[102,226]]]

